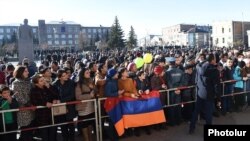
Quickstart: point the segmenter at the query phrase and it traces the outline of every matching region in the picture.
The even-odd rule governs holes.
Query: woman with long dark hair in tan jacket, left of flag
[[[75,88],[76,100],[89,100],[95,96],[95,87],[90,77],[90,70],[82,68],[78,74],[77,84]],[[94,118],[94,103],[84,102],[76,105],[78,111],[78,120]],[[84,141],[92,141],[91,132],[93,130],[94,120],[81,121],[78,128],[81,129]]]

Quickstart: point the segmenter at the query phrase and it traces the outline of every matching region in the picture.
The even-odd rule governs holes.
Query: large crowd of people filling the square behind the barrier
[[[152,60],[138,66],[133,60],[149,53]],[[137,99],[151,90],[167,90],[195,85],[193,89],[177,89],[160,94],[162,105],[177,104],[164,108],[166,123],[147,126],[151,129],[167,129],[191,121],[189,133],[193,134],[198,114],[212,124],[213,115],[240,112],[250,94],[221,97],[222,94],[249,91],[250,51],[241,49],[169,49],[151,51],[96,51],[89,54],[68,54],[58,59],[55,53],[43,58],[40,66],[24,58],[14,66],[0,63],[1,110],[29,106],[46,106],[36,110],[4,113],[6,131],[51,125],[53,104],[100,97],[131,97]],[[225,83],[223,81],[235,80]],[[245,85],[244,85],[245,84]],[[247,100],[246,100],[247,99]],[[196,100],[196,103],[178,103]],[[169,101],[169,102],[168,102]],[[55,116],[55,123],[70,122],[74,118],[84,120],[95,117],[94,103],[67,105],[67,113]],[[193,114],[192,114],[193,113]],[[2,117],[2,116],[1,116]],[[2,122],[0,122],[2,124]],[[3,131],[1,125],[0,131]],[[85,141],[92,140],[95,122],[88,120],[77,124],[78,132]],[[64,141],[73,141],[75,125],[61,126]],[[132,130],[140,135],[140,128]],[[115,130],[114,130],[115,132]],[[125,134],[128,134],[128,130]],[[20,141],[31,141],[34,133],[43,141],[57,140],[57,127],[21,130]],[[115,133],[110,138],[118,140]],[[17,140],[16,133],[0,135],[1,141]]]

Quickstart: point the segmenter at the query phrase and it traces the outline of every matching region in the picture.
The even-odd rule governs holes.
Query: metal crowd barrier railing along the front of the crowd
[[[242,81],[242,80],[239,80],[239,81]],[[243,92],[238,92],[238,93],[232,93],[232,94],[225,95],[225,93],[224,93],[225,84],[226,83],[232,83],[232,82],[237,82],[237,81],[236,80],[229,80],[229,81],[221,82],[222,83],[222,89],[223,89],[221,97],[234,96],[234,95],[239,95],[239,94],[244,94],[244,93],[249,93],[250,92],[250,91],[246,91],[246,81],[244,81],[244,91]],[[163,108],[178,106],[178,105],[185,105],[185,104],[196,102],[196,99],[195,99],[195,100],[192,100],[192,101],[180,102],[180,103],[176,103],[176,104],[170,104],[170,101],[169,101],[169,92],[170,91],[185,90],[185,89],[191,89],[191,88],[196,88],[196,86],[195,85],[182,86],[182,87],[177,87],[177,88],[160,90],[159,92],[167,92],[167,99],[168,99],[167,100],[167,105],[164,105]],[[52,105],[52,107],[56,107],[56,106],[62,106],[62,105],[80,104],[80,103],[84,103],[84,102],[94,102],[94,108],[95,108],[95,117],[94,118],[55,124],[54,123],[53,108],[51,108],[52,125],[32,127],[32,128],[26,128],[26,129],[15,130],[15,131],[7,131],[7,132],[6,132],[6,128],[5,128],[4,113],[6,113],[6,112],[18,112],[18,111],[23,111],[23,110],[35,110],[35,109],[42,109],[42,108],[47,108],[47,107],[46,106],[31,106],[31,107],[24,107],[24,108],[18,108],[18,109],[2,110],[2,111],[0,111],[0,113],[2,113],[4,131],[0,132],[0,135],[1,134],[7,134],[7,133],[20,132],[20,131],[27,131],[27,130],[35,130],[35,129],[53,127],[53,126],[60,126],[60,125],[65,125],[65,124],[84,122],[84,121],[89,121],[89,120],[95,120],[95,123],[96,123],[96,139],[97,139],[97,141],[102,141],[102,119],[108,117],[108,116],[102,116],[101,101],[103,101],[105,99],[107,99],[107,98],[97,98],[97,99],[91,99],[91,100],[72,101],[72,102],[66,102],[66,103],[60,103],[60,104],[53,104]]]

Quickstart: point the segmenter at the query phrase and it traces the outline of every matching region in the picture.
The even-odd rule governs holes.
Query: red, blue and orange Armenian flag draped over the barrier
[[[107,98],[105,109],[114,123],[119,136],[124,129],[166,122],[158,91],[141,95],[138,99],[129,97]]]

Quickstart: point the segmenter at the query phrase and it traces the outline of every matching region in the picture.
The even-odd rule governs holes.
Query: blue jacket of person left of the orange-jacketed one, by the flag
[[[118,97],[118,81],[112,78],[107,78],[105,84],[105,97]]]

